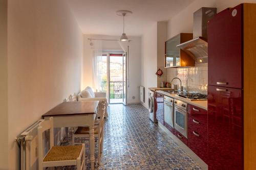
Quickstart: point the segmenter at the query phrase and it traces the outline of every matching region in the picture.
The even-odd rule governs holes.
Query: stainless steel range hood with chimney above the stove
[[[208,43],[207,43],[207,22],[214,17],[217,8],[200,8],[194,12],[193,38],[190,41],[177,45],[197,63],[208,62]]]

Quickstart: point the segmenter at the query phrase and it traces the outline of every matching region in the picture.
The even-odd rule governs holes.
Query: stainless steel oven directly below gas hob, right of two
[[[174,100],[174,129],[187,138],[187,103]]]

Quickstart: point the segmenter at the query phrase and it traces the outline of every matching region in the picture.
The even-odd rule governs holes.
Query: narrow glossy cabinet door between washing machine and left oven
[[[164,125],[164,102],[163,102],[164,95],[160,93],[155,93],[155,109],[156,109],[156,118],[158,123]]]

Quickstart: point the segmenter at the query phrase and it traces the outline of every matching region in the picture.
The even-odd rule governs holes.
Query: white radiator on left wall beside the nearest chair
[[[34,170],[37,169],[37,127],[40,122],[38,120],[35,124],[26,129],[18,140],[20,141],[20,170]]]

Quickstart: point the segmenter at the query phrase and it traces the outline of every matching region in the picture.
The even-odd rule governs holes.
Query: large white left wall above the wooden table
[[[8,169],[18,169],[20,132],[80,90],[82,53],[66,1],[8,1]]]

